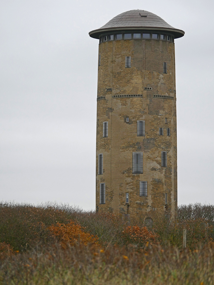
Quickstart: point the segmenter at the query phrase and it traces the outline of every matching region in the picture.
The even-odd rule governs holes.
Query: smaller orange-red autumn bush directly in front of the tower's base
[[[149,231],[147,227],[129,226],[126,227],[123,232],[123,238],[127,243],[138,243],[143,245],[150,241],[150,243],[156,243],[157,235]]]

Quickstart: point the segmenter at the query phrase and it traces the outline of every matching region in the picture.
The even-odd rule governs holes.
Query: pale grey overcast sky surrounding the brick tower
[[[214,204],[213,0],[1,0],[0,200],[95,209],[98,40],[133,9],[175,40],[178,204]]]

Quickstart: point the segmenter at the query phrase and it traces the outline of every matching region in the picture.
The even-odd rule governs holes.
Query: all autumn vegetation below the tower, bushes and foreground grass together
[[[1,203],[0,284],[213,284],[213,211],[182,205],[176,221],[151,212],[127,227],[119,214]]]

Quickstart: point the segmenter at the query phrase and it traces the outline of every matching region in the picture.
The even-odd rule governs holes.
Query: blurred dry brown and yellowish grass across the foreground
[[[0,284],[176,284],[214,282],[214,249],[180,251],[148,245],[146,254],[133,248],[76,245],[7,254],[1,258]]]

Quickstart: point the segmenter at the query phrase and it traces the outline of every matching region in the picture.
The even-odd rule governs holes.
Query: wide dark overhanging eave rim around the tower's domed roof
[[[103,28],[98,30],[93,30],[89,32],[89,36],[91,38],[97,38],[99,39],[99,36],[101,34],[107,33],[107,32],[119,32],[119,31],[132,31],[132,30],[144,30],[144,31],[160,31],[160,32],[170,32],[175,36],[175,38],[181,38],[184,36],[185,32],[182,30],[177,30],[173,28],[161,28],[161,27],[117,27],[117,28]]]

